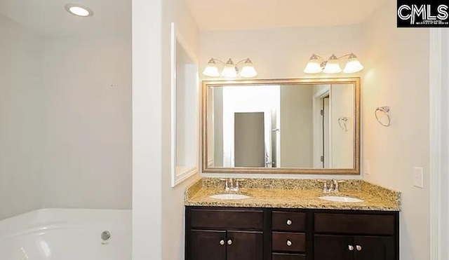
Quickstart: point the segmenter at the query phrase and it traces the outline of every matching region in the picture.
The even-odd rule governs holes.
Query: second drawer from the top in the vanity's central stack
[[[306,234],[305,233],[272,233],[273,251],[281,252],[305,252]]]

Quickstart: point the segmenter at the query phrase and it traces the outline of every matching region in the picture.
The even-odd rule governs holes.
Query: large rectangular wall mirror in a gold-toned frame
[[[203,172],[360,174],[360,78],[202,88]]]

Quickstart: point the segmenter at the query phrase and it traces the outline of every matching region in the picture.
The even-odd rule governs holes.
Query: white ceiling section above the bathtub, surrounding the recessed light
[[[81,4],[94,15],[76,17],[65,4]],[[0,15],[46,36],[131,31],[131,0],[0,0]]]

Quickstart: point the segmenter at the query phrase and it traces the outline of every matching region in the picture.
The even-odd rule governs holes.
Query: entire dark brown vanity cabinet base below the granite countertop
[[[187,260],[398,260],[398,212],[187,207]]]

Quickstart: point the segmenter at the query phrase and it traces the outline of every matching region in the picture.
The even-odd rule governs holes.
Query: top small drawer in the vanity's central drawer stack
[[[303,212],[272,212],[272,230],[274,231],[305,231],[306,214]]]

